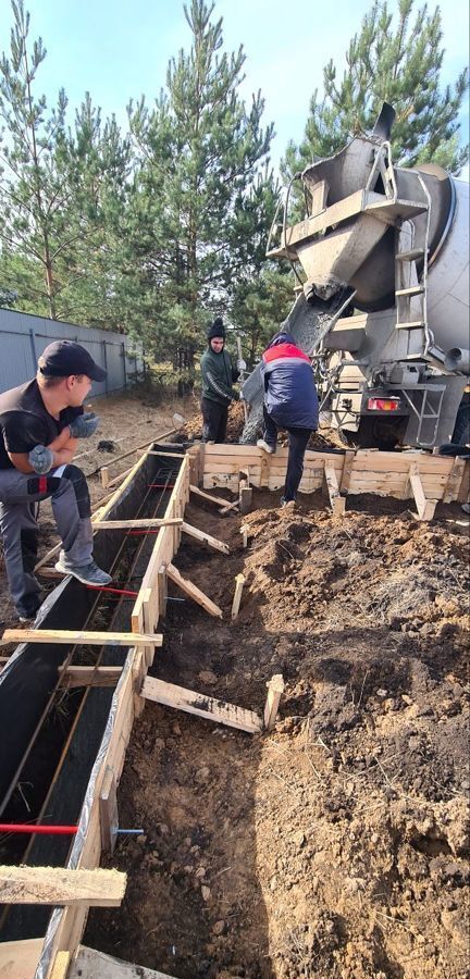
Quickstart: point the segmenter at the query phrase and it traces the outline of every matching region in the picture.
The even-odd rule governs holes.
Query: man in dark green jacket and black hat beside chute
[[[201,357],[202,374],[202,442],[224,442],[231,401],[239,394],[232,386],[238,379],[239,364],[234,368],[224,349],[225,327],[217,317],[208,331],[208,349]]]

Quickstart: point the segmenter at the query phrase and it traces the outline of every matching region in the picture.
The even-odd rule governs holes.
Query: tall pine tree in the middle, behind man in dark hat
[[[144,101],[129,107],[140,169],[127,240],[138,257],[148,330],[160,348],[184,343],[190,354],[209,310],[223,312],[233,294],[249,244],[243,214],[273,135],[272,125],[261,125],[260,92],[249,110],[238,95],[245,54],[242,47],[222,51],[213,10],[203,0],[184,8],[189,52],[170,62],[152,111]],[[247,226],[249,233],[250,220]]]

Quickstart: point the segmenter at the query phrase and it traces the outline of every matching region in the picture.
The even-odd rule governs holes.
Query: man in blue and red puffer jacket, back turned
[[[279,333],[264,350],[261,361],[264,385],[264,430],[257,445],[275,453],[277,429],[288,432],[289,451],[284,496],[285,506],[296,498],[304,472],[304,456],[312,432],[317,431],[319,404],[310,358],[296,346],[289,333]]]

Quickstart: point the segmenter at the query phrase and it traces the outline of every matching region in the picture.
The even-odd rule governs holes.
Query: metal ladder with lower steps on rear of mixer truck
[[[428,269],[429,269],[429,237],[431,223],[431,196],[421,175],[418,178],[426,199],[426,221],[424,231],[424,240],[422,245],[415,244],[415,225],[412,221],[404,221],[398,233],[398,249],[395,256],[395,306],[397,311],[396,330],[415,330],[422,331],[423,349],[419,354],[408,354],[407,361],[425,360],[433,349],[434,337],[429,329],[428,322]],[[401,244],[406,243],[405,249]],[[416,262],[423,260],[423,269],[421,282],[418,282]],[[419,312],[417,314],[416,300],[419,300]],[[415,300],[415,301],[413,301]],[[432,352],[431,352],[432,356]],[[445,393],[445,385],[433,385],[432,388],[426,384],[416,385],[417,401],[410,396],[409,392],[404,391],[408,405],[418,419],[417,442],[419,445],[429,447],[434,444],[437,432],[438,420]],[[426,422],[434,421],[434,430],[429,441],[422,439],[423,425]]]

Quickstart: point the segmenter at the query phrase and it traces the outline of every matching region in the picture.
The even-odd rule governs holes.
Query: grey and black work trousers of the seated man
[[[65,567],[88,565],[92,553],[90,499],[84,473],[60,466],[47,475],[0,469],[0,532],[10,592],[22,618],[36,615],[40,585],[34,575],[37,560],[37,503],[51,497]]]

